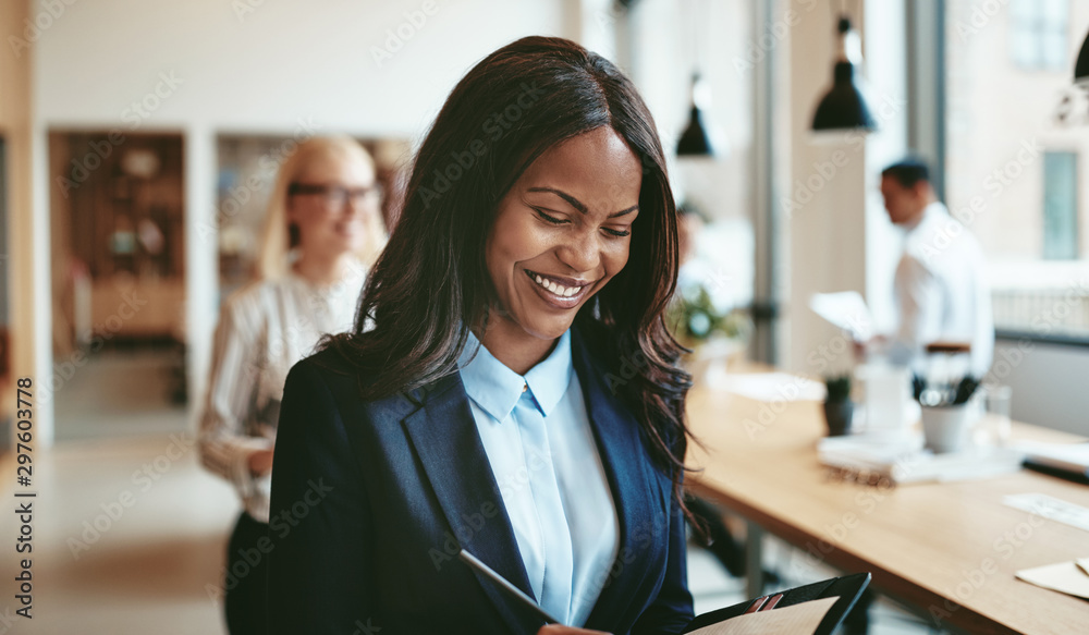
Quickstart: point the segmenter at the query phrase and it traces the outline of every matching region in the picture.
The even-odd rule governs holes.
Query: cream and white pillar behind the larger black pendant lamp
[[[861,4],[861,3],[859,3]],[[793,11],[788,16],[786,11]],[[845,371],[849,342],[809,309],[813,293],[857,291],[879,327],[892,320],[892,278],[900,235],[884,215],[878,174],[906,149],[903,0],[870,0],[853,15],[865,65],[856,76],[879,130],[815,135],[813,110],[832,83],[835,23],[820,3],[784,2],[790,27],[791,174],[776,203],[790,234],[786,308],[788,347],[783,364],[796,371]]]

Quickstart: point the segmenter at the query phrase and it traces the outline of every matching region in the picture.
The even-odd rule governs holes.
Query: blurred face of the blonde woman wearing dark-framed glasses
[[[287,220],[304,253],[340,255],[363,247],[368,215],[380,213],[375,170],[354,154],[328,152],[303,166],[297,192],[287,197]]]

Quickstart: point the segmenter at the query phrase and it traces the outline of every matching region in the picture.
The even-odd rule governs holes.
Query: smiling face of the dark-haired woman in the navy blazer
[[[627,264],[641,185],[639,160],[609,126],[534,161],[500,202],[488,235],[497,326],[514,337],[563,334]]]

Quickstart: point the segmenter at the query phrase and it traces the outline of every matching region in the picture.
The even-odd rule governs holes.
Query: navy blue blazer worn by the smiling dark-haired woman
[[[577,329],[572,357],[620,518],[587,628],[680,633],[692,620],[669,476]],[[454,373],[364,402],[332,351],[287,375],[272,472],[269,633],[536,633],[543,624],[456,558],[534,597],[468,396]]]

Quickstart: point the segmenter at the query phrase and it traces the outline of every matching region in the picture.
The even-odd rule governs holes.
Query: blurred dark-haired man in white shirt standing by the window
[[[938,200],[921,161],[885,168],[881,195],[890,220],[905,231],[894,281],[900,323],[885,342],[890,359],[921,370],[927,344],[968,342],[970,371],[981,378],[994,353],[994,318],[979,241]]]

